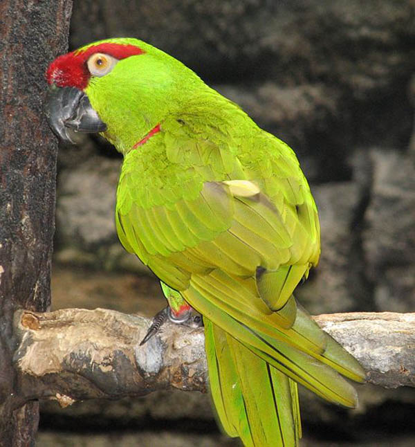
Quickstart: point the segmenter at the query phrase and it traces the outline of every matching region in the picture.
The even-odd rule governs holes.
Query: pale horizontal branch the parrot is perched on
[[[415,386],[415,313],[335,313],[317,323],[383,387]],[[151,320],[108,309],[18,311],[20,394],[63,406],[154,390],[207,388],[203,328],[174,325],[140,346]]]

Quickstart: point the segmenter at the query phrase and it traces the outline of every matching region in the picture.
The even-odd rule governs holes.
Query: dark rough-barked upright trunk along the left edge
[[[29,446],[38,404],[12,365],[16,309],[50,304],[57,143],[46,125],[44,71],[67,48],[71,0],[0,5],[0,446]]]

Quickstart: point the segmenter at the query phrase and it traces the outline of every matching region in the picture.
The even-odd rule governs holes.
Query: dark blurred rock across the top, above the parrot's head
[[[71,42],[138,37],[209,77],[328,77],[362,96],[409,69],[414,30],[409,1],[86,0]]]

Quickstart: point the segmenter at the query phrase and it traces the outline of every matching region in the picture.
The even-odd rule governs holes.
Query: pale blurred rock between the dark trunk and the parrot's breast
[[[138,258],[122,248],[116,235],[114,210],[120,165],[118,159],[91,156],[59,175],[55,253],[59,262],[147,271]]]

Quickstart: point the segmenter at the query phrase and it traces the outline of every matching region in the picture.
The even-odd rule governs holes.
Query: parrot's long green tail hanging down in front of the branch
[[[290,379],[207,318],[204,322],[208,364],[217,372],[210,374],[210,389],[224,430],[240,436],[246,447],[297,446]],[[230,399],[223,402],[227,394]]]

